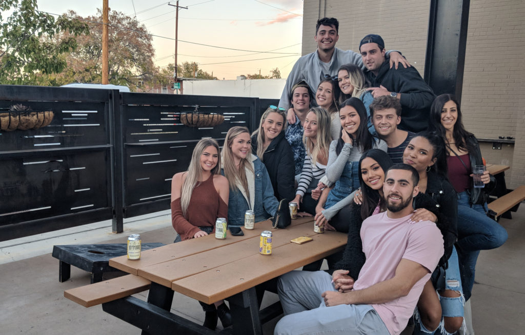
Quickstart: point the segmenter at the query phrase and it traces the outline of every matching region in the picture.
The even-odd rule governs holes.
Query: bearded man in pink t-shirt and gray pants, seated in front
[[[285,312],[275,334],[399,334],[443,256],[443,238],[433,222],[409,222],[419,175],[394,164],[383,186],[387,211],[363,222],[366,261],[353,282],[346,270],[292,271],[279,278]]]

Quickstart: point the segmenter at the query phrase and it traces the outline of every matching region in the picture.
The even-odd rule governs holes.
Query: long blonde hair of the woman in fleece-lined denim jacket
[[[241,186],[243,186],[243,189],[245,190],[249,198],[250,195],[248,190],[248,180],[246,179],[245,169],[248,169],[251,172],[254,171],[253,167],[251,166],[251,145],[249,145],[248,155],[246,156],[246,158],[240,160],[238,169],[235,166],[232,148],[230,148],[235,138],[242,133],[248,133],[249,135],[250,131],[248,130],[248,128],[240,127],[238,125],[230,128],[228,130],[228,133],[226,134],[226,138],[224,139],[224,146],[221,154],[224,165],[224,176],[226,177],[226,179],[228,179],[230,190],[237,190],[237,185],[240,184]]]

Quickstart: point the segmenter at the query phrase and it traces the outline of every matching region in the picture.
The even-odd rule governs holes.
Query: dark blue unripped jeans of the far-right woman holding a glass
[[[486,214],[487,204],[470,205],[467,192],[458,194],[458,252],[465,267],[463,292],[468,300],[474,286],[479,250],[495,249],[508,238],[507,231]]]

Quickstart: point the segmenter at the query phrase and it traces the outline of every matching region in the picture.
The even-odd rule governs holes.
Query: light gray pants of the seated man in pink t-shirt
[[[370,305],[326,307],[321,294],[335,291],[324,271],[291,271],[279,278],[278,291],[285,312],[274,334],[388,335],[383,320]]]

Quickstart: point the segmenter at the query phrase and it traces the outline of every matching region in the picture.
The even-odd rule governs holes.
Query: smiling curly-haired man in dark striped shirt
[[[370,104],[370,118],[380,139],[388,145],[387,153],[394,164],[403,163],[403,152],[415,133],[397,128],[401,122],[401,102],[381,96]]]

